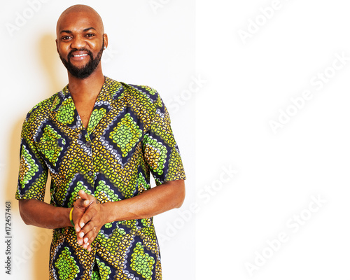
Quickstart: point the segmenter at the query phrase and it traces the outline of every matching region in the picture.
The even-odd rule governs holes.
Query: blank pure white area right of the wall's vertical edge
[[[210,230],[196,235],[196,279],[349,279],[349,10],[342,0],[196,1],[197,71],[208,79],[196,99],[197,191],[213,193],[197,200],[207,202],[197,232]],[[220,188],[229,165],[237,174]]]

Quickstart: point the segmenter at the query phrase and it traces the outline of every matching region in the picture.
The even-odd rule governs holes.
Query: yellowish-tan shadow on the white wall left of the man
[[[59,83],[59,77],[57,75],[59,68],[62,67],[62,64],[59,65],[59,59],[57,60],[57,50],[55,45],[55,36],[53,34],[43,34],[41,40],[37,45],[38,50],[38,64],[43,67],[46,76],[43,76],[42,79],[45,80],[48,88],[45,92],[41,93],[42,99],[50,97],[52,94],[61,90],[64,85]],[[30,73],[29,73],[30,74]],[[35,88],[29,89],[29,92],[35,92]],[[35,104],[29,104],[28,111]],[[10,146],[8,147],[8,179],[6,180],[9,186],[6,189],[6,197],[9,200],[13,201],[13,214],[19,215],[18,202],[14,199],[15,195],[15,186],[17,186],[18,181],[18,168],[19,168],[19,153],[20,153],[20,132],[22,129],[22,123],[24,119],[20,116],[19,120],[16,122],[15,127],[13,127],[12,134],[10,135]],[[48,179],[50,182],[50,176]],[[45,202],[50,203],[50,183],[46,185],[45,191]],[[16,213],[17,211],[17,213]],[[22,219],[20,219],[22,220]],[[22,255],[16,257],[27,267],[32,267],[32,275],[27,279],[48,279],[48,265],[50,259],[50,243],[52,239],[52,230],[37,228],[31,225],[24,225],[24,228],[28,227],[26,232],[31,236],[31,241],[27,244],[22,245]],[[28,263],[30,262],[30,264]],[[21,264],[20,264],[21,265]],[[19,269],[16,267],[16,264],[13,263],[13,269]]]

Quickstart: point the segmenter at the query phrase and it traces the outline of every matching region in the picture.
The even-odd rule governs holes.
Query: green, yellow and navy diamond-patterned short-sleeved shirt
[[[16,199],[43,201],[48,172],[55,207],[73,207],[79,190],[101,203],[134,197],[151,188],[150,173],[157,185],[186,179],[158,92],[107,77],[87,129],[68,85],[29,111]],[[73,227],[53,230],[50,279],[95,278],[162,279],[153,218],[107,223],[90,253]]]

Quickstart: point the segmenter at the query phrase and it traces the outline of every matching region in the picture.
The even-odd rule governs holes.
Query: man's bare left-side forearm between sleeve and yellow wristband
[[[54,207],[39,200],[20,200],[20,215],[27,225],[40,228],[64,228],[71,226],[70,208]]]

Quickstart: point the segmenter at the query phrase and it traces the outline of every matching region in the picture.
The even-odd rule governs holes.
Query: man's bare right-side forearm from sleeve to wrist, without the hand
[[[179,208],[185,198],[183,180],[169,181],[144,193],[118,202],[102,204],[107,223],[149,218],[170,209]]]

